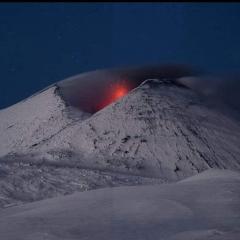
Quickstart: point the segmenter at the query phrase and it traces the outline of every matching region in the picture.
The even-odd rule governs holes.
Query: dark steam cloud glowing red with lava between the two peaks
[[[186,66],[106,69],[80,74],[57,83],[63,99],[82,111],[95,113],[126,95],[146,79],[177,79],[195,75]]]

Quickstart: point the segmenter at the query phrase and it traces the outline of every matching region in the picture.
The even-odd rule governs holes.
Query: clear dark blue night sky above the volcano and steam
[[[240,72],[240,4],[0,4],[0,108],[98,68]]]

